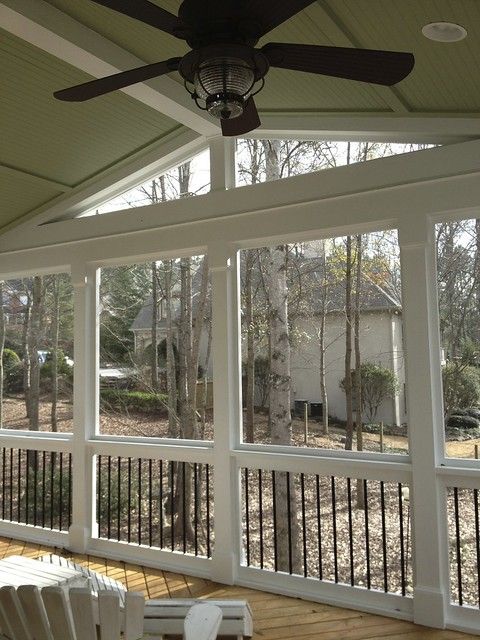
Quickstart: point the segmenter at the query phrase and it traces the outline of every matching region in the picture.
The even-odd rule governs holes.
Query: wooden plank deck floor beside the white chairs
[[[0,538],[0,558],[25,555],[36,558],[55,551],[38,544]],[[468,640],[478,636],[438,631],[410,622],[384,618],[359,611],[340,609],[278,596],[243,587],[192,578],[182,574],[139,565],[105,560],[95,556],[68,555],[75,562],[123,582],[128,589],[141,591],[147,598],[232,598],[246,599],[253,611],[254,640]]]

